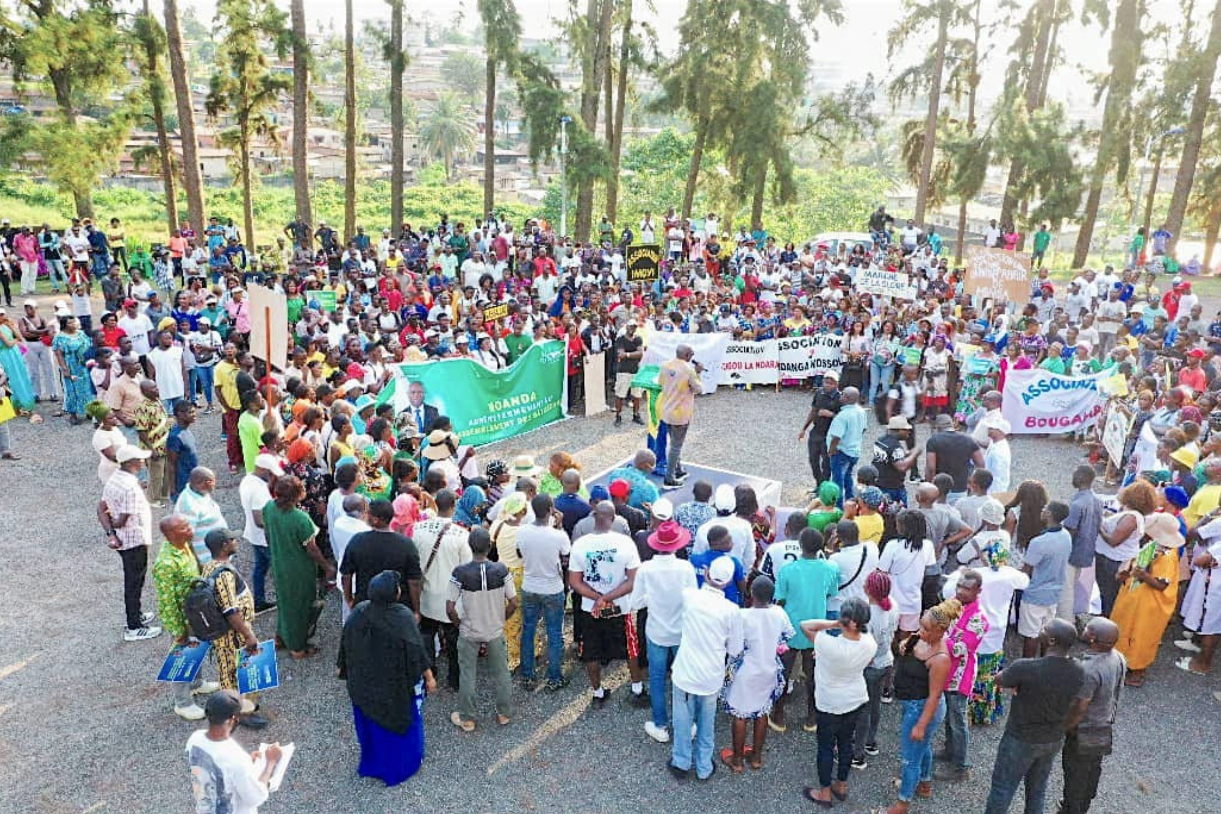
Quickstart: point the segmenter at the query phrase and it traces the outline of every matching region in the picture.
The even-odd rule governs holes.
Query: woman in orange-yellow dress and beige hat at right
[[[1142,549],[1120,572],[1120,596],[1111,621],[1120,626],[1115,649],[1128,660],[1125,683],[1144,685],[1145,669],[1158,658],[1158,646],[1178,600],[1178,548],[1183,536],[1170,514],[1145,517],[1145,538],[1153,542],[1151,559]]]

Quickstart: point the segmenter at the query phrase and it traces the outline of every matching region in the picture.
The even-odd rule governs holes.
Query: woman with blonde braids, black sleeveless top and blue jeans
[[[962,603],[946,599],[924,611],[919,631],[895,652],[895,698],[902,705],[899,748],[902,774],[899,799],[885,814],[907,814],[913,797],[933,796],[933,746],[929,735],[945,719],[944,690],[950,676],[945,632],[962,615]]]

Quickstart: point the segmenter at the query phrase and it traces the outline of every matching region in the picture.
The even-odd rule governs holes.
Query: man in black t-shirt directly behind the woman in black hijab
[[[389,500],[369,504],[369,525],[372,531],[363,531],[348,541],[343,552],[339,574],[343,575],[343,598],[349,608],[369,598],[369,581],[382,571],[398,571],[402,593],[399,602],[420,613],[420,588],[424,571],[415,544],[389,531],[394,519],[394,506]]]

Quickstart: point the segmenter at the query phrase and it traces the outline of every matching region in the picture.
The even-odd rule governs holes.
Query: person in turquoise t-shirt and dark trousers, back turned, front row
[[[801,559],[784,566],[775,577],[775,602],[789,614],[796,635],[789,639],[789,650],[780,657],[784,661],[785,680],[792,675],[792,668],[801,655],[801,670],[806,675],[806,721],[803,729],[813,732],[816,722],[814,708],[814,646],[801,632],[801,622],[807,619],[827,619],[827,600],[839,593],[839,565],[822,559],[823,536],[813,528],[806,528],[797,537],[801,546]],[[784,731],[784,704],[786,696],[780,696],[772,708],[772,729]]]

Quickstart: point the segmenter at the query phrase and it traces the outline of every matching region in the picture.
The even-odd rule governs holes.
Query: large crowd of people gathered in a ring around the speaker
[[[471,732],[484,725],[476,674],[487,672],[505,726],[514,681],[562,690],[575,658],[595,710],[610,694],[603,668],[626,661],[628,701],[648,710],[645,736],[672,744],[680,780],[707,780],[718,764],[762,769],[769,732],[800,725],[818,737],[806,798],[849,799],[851,771],[888,754],[901,774],[885,810],[901,814],[934,782],[971,780],[972,727],[1004,721],[987,812],[1009,810],[1023,783],[1027,810],[1042,810],[1057,755],[1060,810],[1085,812],[1122,688],[1145,682],[1173,619],[1177,666],[1211,670],[1221,316],[1203,316],[1156,244],[1151,258],[1142,248],[1134,265],[1083,270],[1067,286],[1035,256],[1029,301],[974,301],[935,233],[908,223],[894,239],[890,223],[879,209],[871,240],[799,250],[673,209],[618,236],[603,218],[585,244],[495,215],[347,240],[294,222],[255,258],[232,222],[211,218],[128,258],[116,251],[117,221],[62,234],[6,222],[6,251],[23,272],[34,266],[22,292],[40,262],[63,255],[51,283],[71,304],[0,310],[0,386],[18,415],[94,427],[98,519],[122,561],[126,639],[189,643],[200,637],[198,586],[215,592],[215,680],[181,683],[172,701],[177,715],[208,720],[188,744],[201,804],[225,793],[258,805],[282,759],[272,747],[249,760],[231,738],[237,725],[267,726],[261,698],[238,694],[237,661],[259,649],[255,614],[274,611],[289,658],[338,639],[359,771],[389,785],[419,769],[422,705],[442,680],[451,722]],[[664,260],[656,278],[629,282],[624,249],[639,242],[662,244]],[[43,254],[27,260],[32,244]],[[917,297],[861,292],[862,268],[910,275]],[[288,322],[275,326],[292,340],[283,370],[249,347],[250,284],[287,297]],[[485,317],[501,305],[504,316]],[[469,358],[501,370],[556,338],[570,398],[581,398],[585,360],[606,354],[615,423],[625,400],[640,421],[631,376],[656,332],[842,337],[838,370],[780,384],[810,392],[799,431],[808,505],[778,513],[731,482],[690,483],[678,505],[667,497],[689,484],[681,447],[698,432],[686,345],[661,366],[668,460],[642,449],[606,486],[587,483],[568,452],[485,460],[416,384],[405,410],[376,399],[398,362]],[[1011,475],[1004,383],[1032,367],[1110,369],[1129,394],[1115,397],[1133,415],[1121,460],[1107,465],[1094,431],[1055,442],[1083,456],[1072,494]],[[226,460],[205,461],[192,427],[217,410]],[[1137,452],[1147,425],[1155,454]],[[5,423],[0,455],[16,458]],[[241,530],[214,497],[226,467],[239,478]],[[1100,495],[1099,477],[1123,487]],[[156,615],[142,604],[154,542]],[[244,547],[248,575],[234,563]],[[342,633],[319,629],[333,594]],[[790,713],[802,694],[803,714]],[[878,722],[895,702],[900,740],[888,746]],[[720,748],[718,709],[731,721]]]

